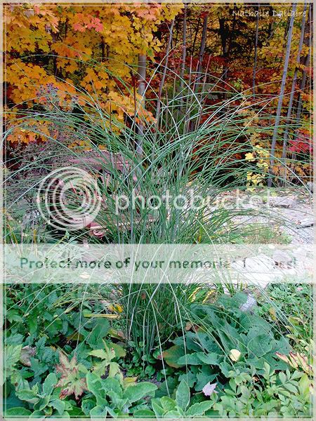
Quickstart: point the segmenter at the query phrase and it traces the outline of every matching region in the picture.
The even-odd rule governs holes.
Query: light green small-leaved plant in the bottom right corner
[[[231,370],[222,394],[212,396],[213,410],[221,417],[269,416],[310,417],[311,378],[289,369],[278,371],[264,364],[261,380],[249,373]]]

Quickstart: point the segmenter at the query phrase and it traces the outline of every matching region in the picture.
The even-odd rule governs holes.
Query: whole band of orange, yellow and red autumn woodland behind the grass
[[[24,115],[21,101],[27,113],[50,107],[74,114],[81,114],[80,107],[88,109],[93,102],[100,102],[111,114],[107,127],[119,130],[116,119],[126,123],[144,118],[154,123],[158,117],[159,126],[163,119],[156,114],[163,106],[157,107],[157,98],[170,98],[170,91],[175,89],[178,103],[171,101],[169,107],[172,114],[195,116],[191,123],[187,119],[181,123],[192,131],[204,117],[199,117],[197,103],[187,101],[190,91],[195,97],[208,91],[203,104],[215,103],[224,114],[238,91],[244,93],[246,105],[239,113],[249,116],[255,128],[250,132],[249,121],[243,119],[241,141],[251,142],[242,154],[251,164],[244,182],[251,188],[267,180],[270,154],[275,160],[270,169],[276,179],[285,176],[289,182],[303,180],[310,174],[312,155],[308,72],[311,9],[298,5],[296,13],[304,19],[298,25],[293,21],[289,25],[284,7],[261,5],[257,20],[256,6],[249,16],[244,8],[248,11],[250,6],[235,4],[120,4],[115,10],[93,5],[6,5],[6,121],[11,128],[7,139],[13,148],[41,144],[48,136],[63,145],[71,138],[71,145],[86,146],[75,127],[59,131],[48,121],[36,118],[27,127],[17,124]],[[284,67],[287,39],[291,49]],[[147,74],[140,75],[137,67],[142,68],[142,63]],[[281,83],[284,91],[279,95],[284,73],[287,78]],[[174,74],[180,74],[180,78],[175,79]],[[152,92],[145,88],[147,79]],[[276,147],[272,147],[271,131],[265,133],[265,129],[271,117],[278,114],[278,97],[285,103],[284,93],[293,97],[289,105],[286,103],[288,107],[282,108],[282,116],[277,116],[282,120],[275,124],[279,131]],[[146,107],[144,95],[149,100]],[[223,99],[228,98],[227,107]],[[251,113],[249,105],[254,105]],[[209,116],[216,121],[212,112]],[[94,118],[96,123],[98,113]],[[226,140],[226,145],[234,142],[230,137]],[[209,137],[208,142],[213,139]]]

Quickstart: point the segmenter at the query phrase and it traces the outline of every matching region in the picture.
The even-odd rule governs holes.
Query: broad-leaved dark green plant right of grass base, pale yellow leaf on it
[[[169,366],[190,366],[185,375],[197,392],[207,381],[227,378],[232,368],[259,375],[265,363],[274,370],[287,368],[276,352],[289,354],[288,340],[262,317],[239,309],[246,299],[246,294],[237,293],[232,298],[223,295],[215,305],[192,305],[197,325],[163,353]]]

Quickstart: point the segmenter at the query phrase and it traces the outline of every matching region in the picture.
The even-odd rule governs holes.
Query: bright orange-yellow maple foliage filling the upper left
[[[153,33],[161,22],[172,20],[181,6],[4,6],[8,128],[22,110],[38,105],[57,105],[69,112],[74,97],[82,107],[96,100],[124,122],[124,114],[134,114],[139,98],[120,81],[129,84],[138,54],[153,57],[159,51],[161,43]],[[153,120],[145,110],[143,116]],[[16,128],[8,140],[27,143],[40,137],[28,129]],[[43,134],[45,140],[48,133]]]

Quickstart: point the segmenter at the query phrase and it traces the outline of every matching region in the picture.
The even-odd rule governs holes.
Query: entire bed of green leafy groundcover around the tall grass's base
[[[163,352],[157,348],[147,355],[144,362],[150,370],[140,381],[124,368],[133,366],[131,344],[117,335],[114,322],[91,317],[91,312],[100,310],[96,291],[94,300],[87,292],[89,300],[81,312],[74,287],[49,286],[43,295],[42,286],[27,286],[24,292],[28,294],[20,300],[20,286],[7,291],[11,297],[5,330],[7,417],[311,415],[308,359],[293,352],[278,325],[259,315],[263,307],[255,307],[253,313],[242,311],[244,293],[190,305],[172,342]],[[41,314],[36,295],[46,306]],[[15,306],[17,297],[20,306]],[[54,306],[51,319],[48,310]],[[32,326],[25,325],[28,312],[38,323],[31,317]]]

